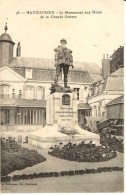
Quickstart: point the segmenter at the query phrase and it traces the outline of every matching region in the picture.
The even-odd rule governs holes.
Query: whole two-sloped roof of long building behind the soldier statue
[[[25,68],[32,68],[32,80],[37,81],[53,81],[56,72],[55,61],[45,58],[18,57],[14,58],[9,67],[23,77],[25,77]],[[94,63],[74,62],[74,69],[70,68],[68,81],[92,83],[101,78],[101,69],[98,65]]]

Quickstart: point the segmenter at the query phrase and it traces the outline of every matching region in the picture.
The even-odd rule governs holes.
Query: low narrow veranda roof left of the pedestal
[[[45,100],[26,100],[26,99],[2,99],[0,106],[11,107],[46,107]]]

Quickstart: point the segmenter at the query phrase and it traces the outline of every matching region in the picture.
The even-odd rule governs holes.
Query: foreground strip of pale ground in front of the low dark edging
[[[2,185],[5,193],[123,192],[123,172],[39,178]]]

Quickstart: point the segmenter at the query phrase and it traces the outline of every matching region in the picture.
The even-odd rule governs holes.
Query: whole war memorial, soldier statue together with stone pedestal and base
[[[98,134],[81,129],[78,126],[77,100],[73,89],[68,86],[68,73],[73,67],[72,51],[62,39],[55,51],[56,74],[51,84],[50,94],[46,98],[46,126],[28,135],[29,144],[40,148],[68,141],[100,144]],[[64,86],[58,84],[61,72],[64,75]]]

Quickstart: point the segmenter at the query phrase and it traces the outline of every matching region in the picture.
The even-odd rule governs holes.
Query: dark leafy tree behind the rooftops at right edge
[[[119,68],[124,67],[124,47],[120,46],[114,53],[111,55],[111,73],[116,71]]]

